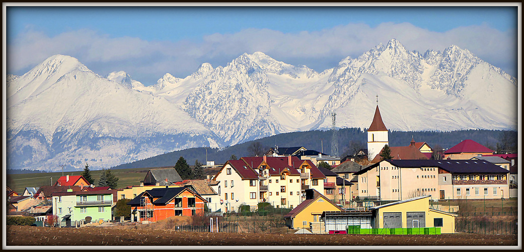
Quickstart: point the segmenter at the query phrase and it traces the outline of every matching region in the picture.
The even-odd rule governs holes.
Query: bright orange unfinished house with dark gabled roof
[[[158,222],[171,216],[203,215],[205,203],[204,198],[187,187],[169,187],[147,190],[127,204],[138,222]]]

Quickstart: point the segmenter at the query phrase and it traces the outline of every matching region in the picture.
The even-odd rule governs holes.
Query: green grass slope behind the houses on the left
[[[144,180],[148,168],[135,168],[135,169],[116,169],[111,170],[116,177],[118,177],[118,188],[125,188],[128,185],[140,185],[140,181]],[[78,172],[64,172],[64,175],[81,175],[83,171]],[[98,184],[101,170],[91,171],[91,177],[95,180],[95,185]],[[10,174],[7,175],[7,186],[13,189],[15,192],[21,194],[24,193],[26,187],[39,187],[42,185],[54,184],[62,172],[51,172],[51,173],[27,173],[27,174]]]

